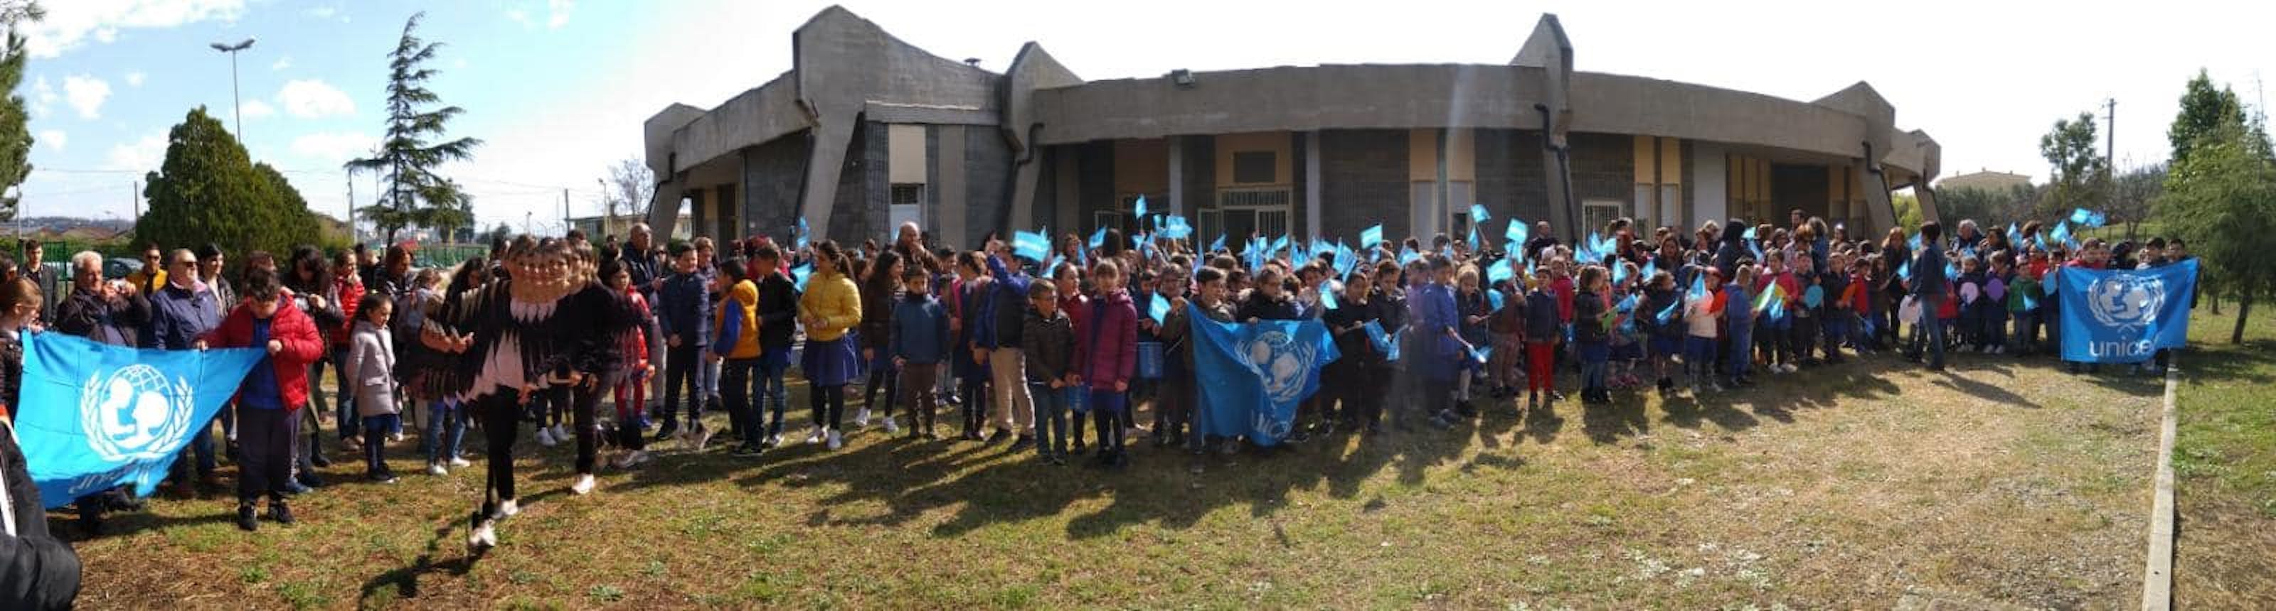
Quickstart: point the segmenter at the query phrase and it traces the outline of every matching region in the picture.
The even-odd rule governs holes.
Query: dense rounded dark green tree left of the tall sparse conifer
[[[237,136],[205,107],[173,125],[166,141],[166,161],[143,177],[150,209],[134,220],[137,241],[284,254],[316,238],[316,214],[300,191],[269,164],[253,166]]]

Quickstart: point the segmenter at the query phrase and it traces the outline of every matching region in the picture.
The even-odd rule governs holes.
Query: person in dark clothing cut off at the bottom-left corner
[[[48,534],[39,482],[16,447],[16,425],[0,416],[0,609],[71,609],[80,597],[80,554]]]

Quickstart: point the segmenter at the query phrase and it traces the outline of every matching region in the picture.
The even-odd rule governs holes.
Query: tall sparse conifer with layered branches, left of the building
[[[444,236],[453,234],[451,229],[473,225],[473,198],[435,170],[446,161],[473,159],[473,148],[483,141],[439,141],[451,118],[467,109],[435,109],[442,104],[442,95],[426,89],[426,82],[437,70],[426,68],[426,64],[435,59],[442,43],[419,39],[421,18],[426,14],[414,14],[403,23],[403,39],[387,55],[387,139],[380,141],[380,150],[371,159],[346,164],[348,173],[385,175],[387,184],[380,189],[378,202],[364,209],[364,220],[387,232],[389,243],[396,241],[398,229],[412,225],[432,227]]]

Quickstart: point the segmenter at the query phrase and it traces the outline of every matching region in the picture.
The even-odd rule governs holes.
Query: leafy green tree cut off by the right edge
[[[2228,343],[2244,343],[2253,300],[2276,291],[2276,257],[2267,257],[2262,243],[2276,234],[2276,159],[2267,136],[2246,127],[2242,116],[2201,134],[2167,175],[2158,218],[2190,238],[2201,270],[2237,295],[2237,327]]]

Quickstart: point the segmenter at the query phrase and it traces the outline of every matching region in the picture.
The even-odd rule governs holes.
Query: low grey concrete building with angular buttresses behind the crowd
[[[1857,82],[1798,102],[1573,70],[1543,16],[1509,64],[1277,66],[1086,82],[1038,43],[1006,73],[933,57],[840,7],[792,36],[794,66],[715,109],[644,125],[651,225],[833,238],[920,220],[974,245],[999,229],[1129,227],[1131,202],[1199,238],[1468,232],[1484,204],[1573,227],[1696,227],[1805,209],[1873,234],[1912,186],[1935,218],[1937,141]],[[1580,229],[1586,234],[1586,229]],[[1236,238],[1238,241],[1238,238]]]

